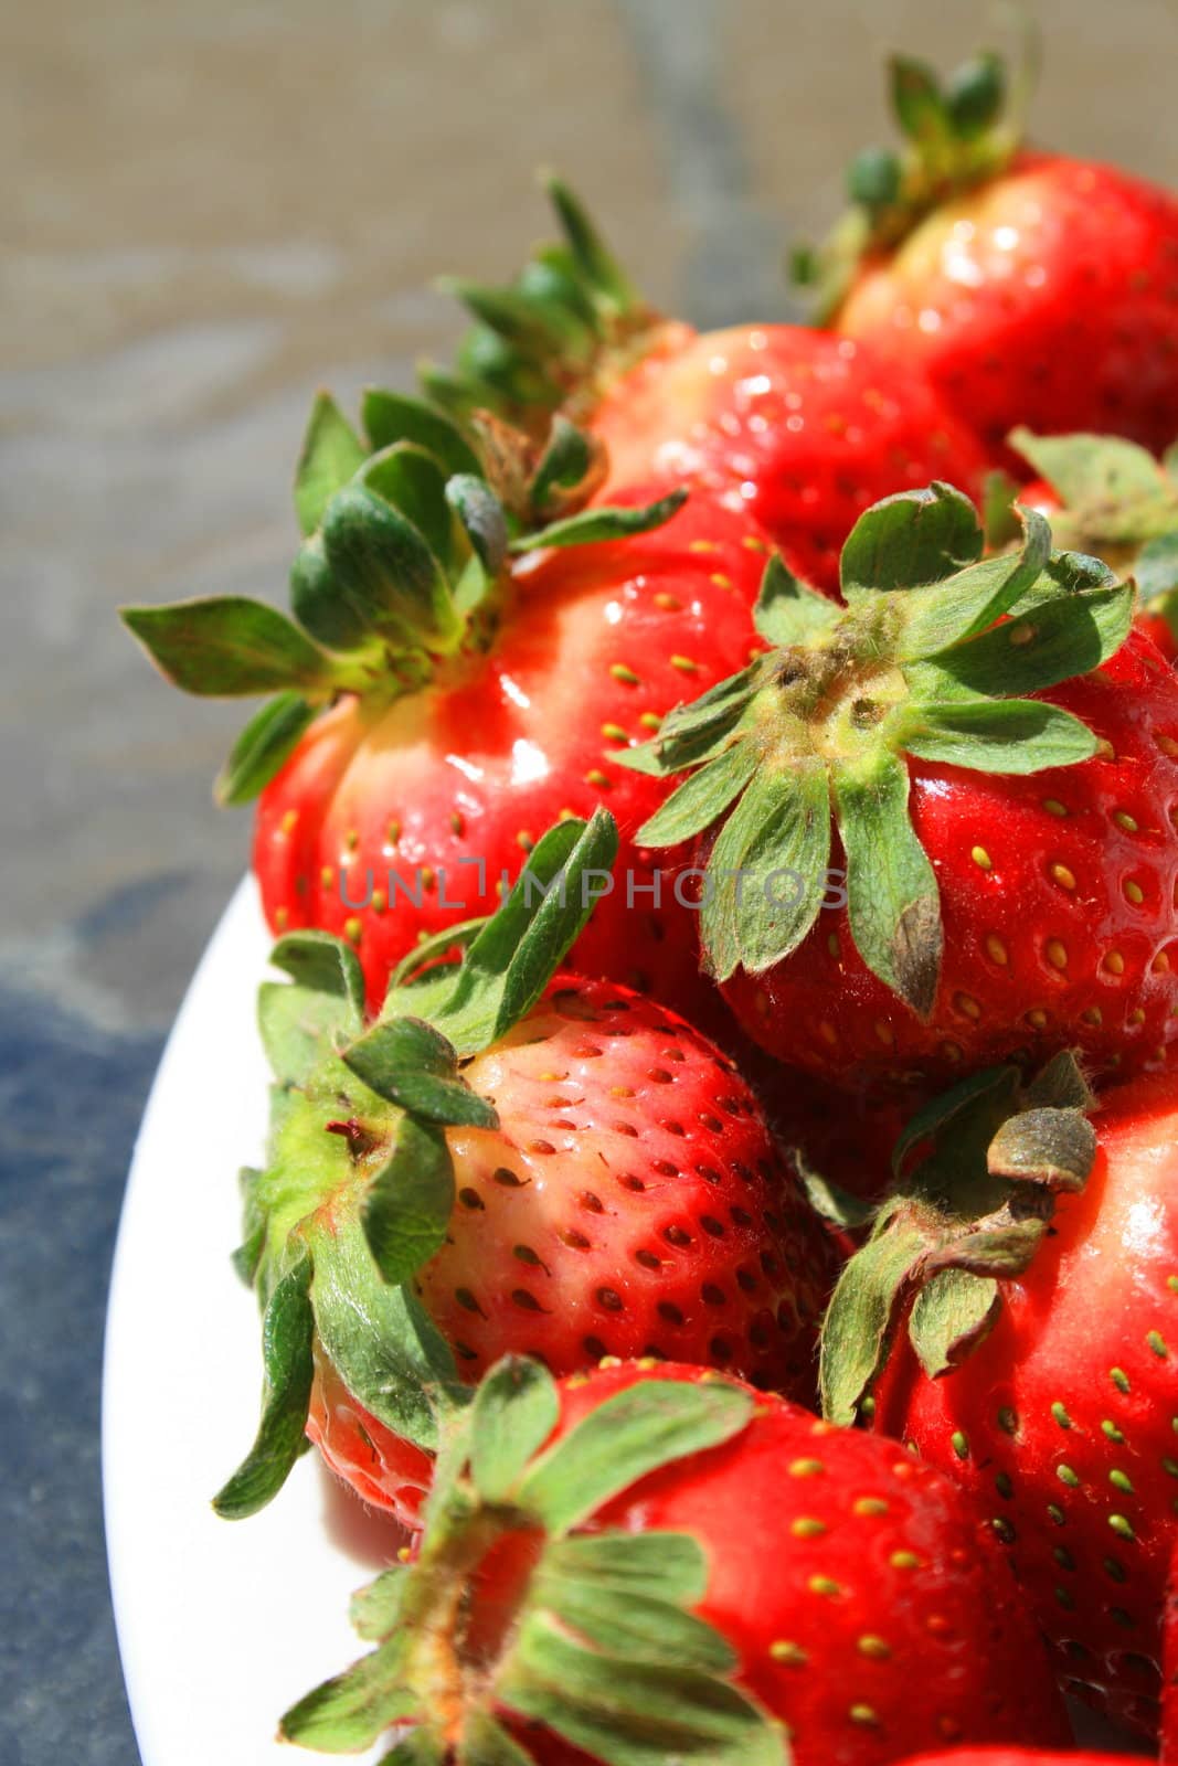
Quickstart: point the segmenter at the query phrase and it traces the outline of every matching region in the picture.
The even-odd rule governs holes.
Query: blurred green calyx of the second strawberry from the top
[[[546,413],[588,415],[604,385],[641,358],[664,320],[653,313],[588,214],[558,178],[546,178],[562,238],[539,247],[503,288],[449,277],[475,325],[450,371],[422,369],[427,396],[466,419],[496,411],[523,429]]]

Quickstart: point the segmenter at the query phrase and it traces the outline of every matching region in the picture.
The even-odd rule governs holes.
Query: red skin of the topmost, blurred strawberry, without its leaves
[[[834,323],[925,371],[989,449],[1028,424],[1160,450],[1178,429],[1178,201],[1021,154],[869,263]]]

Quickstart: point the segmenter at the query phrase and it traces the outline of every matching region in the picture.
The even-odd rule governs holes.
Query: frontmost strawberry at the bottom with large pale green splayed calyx
[[[353,1616],[376,1651],[286,1740],[359,1750],[399,1722],[403,1757],[440,1766],[885,1766],[1067,1738],[954,1487],[696,1367],[556,1385],[500,1362],[445,1441],[417,1563]]]

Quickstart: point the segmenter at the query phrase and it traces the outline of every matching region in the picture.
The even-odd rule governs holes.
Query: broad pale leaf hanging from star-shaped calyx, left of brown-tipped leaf
[[[721,828],[701,932],[717,980],[759,975],[802,943],[827,894],[830,784],[825,766],[759,765]],[[682,789],[687,789],[683,786]]]

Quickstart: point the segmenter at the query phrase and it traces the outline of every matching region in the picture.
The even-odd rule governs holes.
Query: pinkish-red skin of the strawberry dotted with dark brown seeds
[[[834,1249],[756,1098],[712,1044],[608,982],[553,982],[464,1067],[498,1130],[449,1128],[457,1204],[417,1291],[472,1383],[502,1355],[731,1369],[805,1400]],[[311,1436],[417,1524],[429,1459],[325,1365]]]

